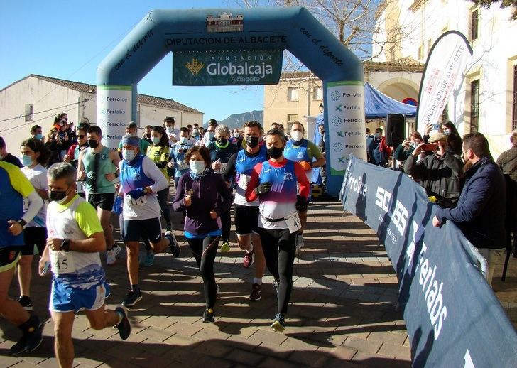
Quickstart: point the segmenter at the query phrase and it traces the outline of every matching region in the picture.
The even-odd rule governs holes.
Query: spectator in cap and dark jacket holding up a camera
[[[454,207],[461,190],[459,179],[463,176],[462,159],[454,153],[447,152],[447,136],[435,132],[429,139],[430,144],[437,146],[432,154],[421,158],[425,143],[415,147],[404,164],[404,171],[425,188],[429,196],[435,196],[441,207]]]

